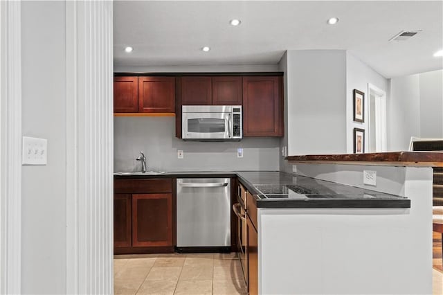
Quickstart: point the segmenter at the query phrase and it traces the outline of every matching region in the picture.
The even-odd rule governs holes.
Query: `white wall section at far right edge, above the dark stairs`
[[[443,70],[419,74],[420,136],[443,138]]]

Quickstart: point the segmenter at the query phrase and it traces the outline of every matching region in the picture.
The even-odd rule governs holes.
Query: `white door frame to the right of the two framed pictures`
[[[376,96],[375,109],[370,108],[370,96],[373,94]],[[370,128],[371,112],[374,111],[377,120],[375,121],[375,130]],[[375,141],[375,152],[386,152],[388,139],[386,136],[386,91],[379,87],[368,83],[368,129],[369,129],[369,147],[371,141],[371,133],[375,132],[377,140]]]

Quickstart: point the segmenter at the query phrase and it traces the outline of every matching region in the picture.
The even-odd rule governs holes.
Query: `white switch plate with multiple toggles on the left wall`
[[[21,147],[21,163],[23,165],[46,165],[48,140],[23,136]]]

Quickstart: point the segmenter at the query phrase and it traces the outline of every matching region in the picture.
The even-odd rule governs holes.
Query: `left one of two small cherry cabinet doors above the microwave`
[[[181,78],[181,105],[210,105],[211,95],[210,77]]]

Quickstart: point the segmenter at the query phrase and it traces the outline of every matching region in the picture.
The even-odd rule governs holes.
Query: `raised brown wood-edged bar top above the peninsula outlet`
[[[443,152],[375,152],[368,154],[310,154],[289,156],[289,163],[328,163],[375,166],[443,167]]]

